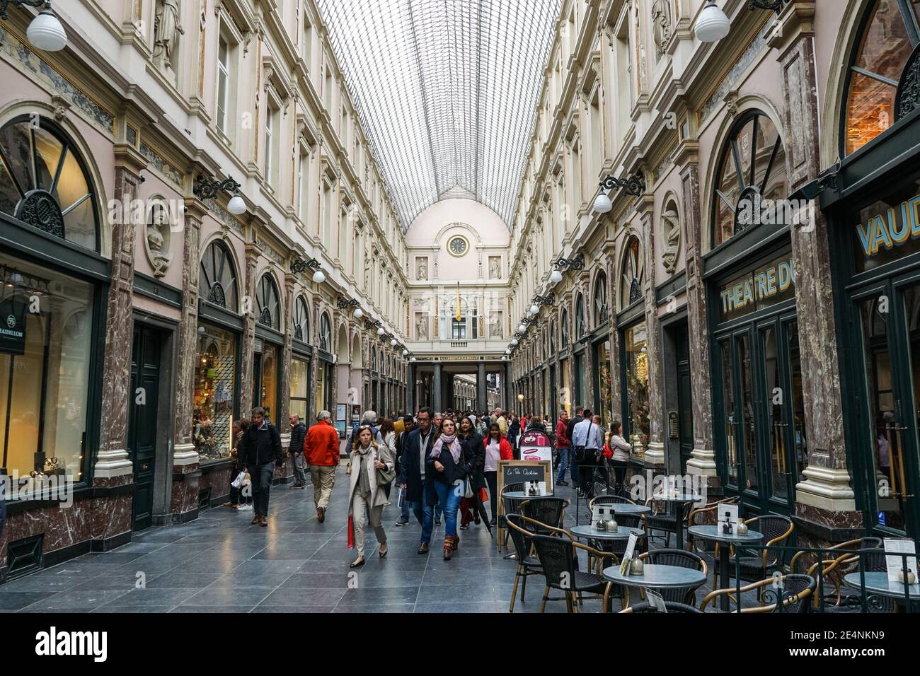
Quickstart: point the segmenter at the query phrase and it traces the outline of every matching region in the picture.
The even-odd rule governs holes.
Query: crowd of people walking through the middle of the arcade
[[[282,452],[278,430],[254,408],[251,419],[236,422],[234,449],[236,472],[230,500],[224,506],[253,510],[253,525],[267,526],[269,496],[275,467],[291,460],[292,488],[306,487],[309,472],[313,485],[316,520],[326,520],[329,499],[335,487],[339,457],[339,431],[329,411],[320,411],[316,424],[292,415],[291,441]],[[565,409],[558,420],[543,416],[518,418],[500,408],[476,414],[451,409],[442,412],[422,407],[415,416],[378,418],[365,411],[360,422],[345,439],[345,473],[348,482],[349,544],[357,557],[351,567],[364,565],[365,521],[374,529],[380,545],[377,553],[388,552],[383,525],[384,508],[391,505],[397,489],[399,516],[395,526],[405,526],[414,516],[420,523],[419,554],[431,548],[434,527],[444,526],[443,557],[450,560],[460,544],[459,531],[498,518],[498,469],[500,460],[520,458],[520,440],[529,430],[542,431],[554,440],[557,486],[571,486],[581,496],[592,497],[593,482],[600,469],[609,484],[607,467],[614,473],[616,492],[623,490],[630,446],[622,437],[623,428],[614,421],[604,430],[600,416],[584,407],[575,407],[569,418]]]

